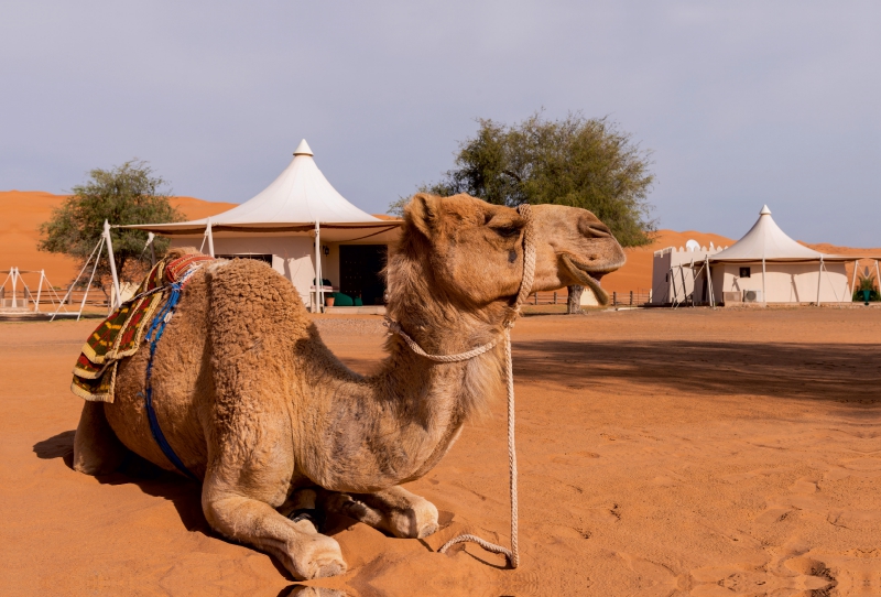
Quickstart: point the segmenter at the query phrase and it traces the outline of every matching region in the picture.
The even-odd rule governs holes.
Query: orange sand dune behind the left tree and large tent
[[[76,260],[36,250],[40,225],[61,207],[65,195],[42,191],[0,191],[0,270],[17,267],[22,271],[45,270],[51,284],[66,286],[76,276]],[[231,203],[214,203],[193,197],[173,197],[172,205],[189,219],[213,216],[235,207]],[[0,276],[0,280],[6,274]],[[25,283],[39,282],[39,274],[25,275]]]

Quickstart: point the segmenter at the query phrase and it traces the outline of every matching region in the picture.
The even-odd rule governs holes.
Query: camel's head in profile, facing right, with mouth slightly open
[[[624,252],[609,228],[586,209],[532,207],[535,279],[531,292],[589,286],[600,303],[602,275],[623,265]],[[515,209],[468,195],[418,194],[405,210],[402,247],[422,252],[432,287],[476,306],[513,298],[523,276],[526,220]]]

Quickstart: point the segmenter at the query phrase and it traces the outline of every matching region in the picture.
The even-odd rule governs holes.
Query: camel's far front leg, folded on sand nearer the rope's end
[[[337,512],[402,539],[422,539],[437,531],[437,508],[403,487],[376,493],[323,491],[328,512]]]

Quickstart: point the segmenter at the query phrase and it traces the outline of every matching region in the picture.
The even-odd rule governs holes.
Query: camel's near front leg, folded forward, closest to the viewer
[[[309,520],[293,522],[269,503],[238,491],[220,490],[220,485],[213,482],[209,474],[202,492],[205,518],[214,529],[274,555],[298,579],[346,572],[339,544],[319,534]],[[297,504],[304,506],[308,508]]]

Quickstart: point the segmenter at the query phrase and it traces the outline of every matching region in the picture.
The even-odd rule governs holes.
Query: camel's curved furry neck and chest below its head
[[[412,282],[417,287],[393,289],[388,312],[426,352],[465,352],[503,333],[505,305],[467,311],[423,293],[418,286],[425,279]],[[486,411],[499,391],[502,343],[453,363],[416,355],[398,335],[389,338],[387,349],[380,371],[368,378],[341,376],[328,384],[326,371],[316,371],[329,390],[322,400],[327,428],[325,445],[312,446],[307,459],[318,464],[308,474],[323,487],[370,491],[421,477],[446,453],[465,421]]]

